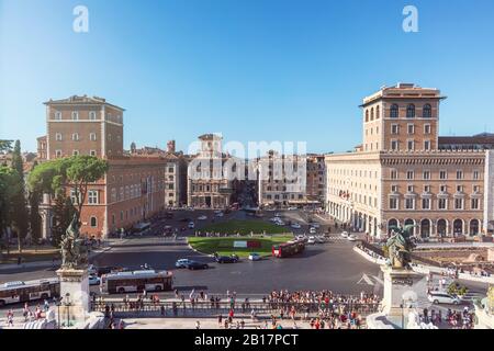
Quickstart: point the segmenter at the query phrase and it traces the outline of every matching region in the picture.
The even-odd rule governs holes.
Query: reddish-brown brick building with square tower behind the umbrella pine
[[[45,105],[47,134],[37,138],[40,156],[52,160],[91,155],[109,162],[105,177],[89,185],[80,214],[81,234],[105,237],[147,220],[166,207],[167,161],[160,156],[124,151],[124,109],[87,95],[49,100]],[[70,184],[67,194],[77,201]],[[50,202],[49,196],[44,196],[41,205],[44,237],[50,235]]]

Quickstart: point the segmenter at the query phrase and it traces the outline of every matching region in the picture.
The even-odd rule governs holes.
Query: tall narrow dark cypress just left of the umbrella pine
[[[12,169],[18,173],[19,191],[12,201],[12,227],[18,234],[18,249],[22,252],[22,239],[26,236],[29,229],[29,216],[24,189],[24,165],[21,155],[21,141],[15,140],[12,152]]]

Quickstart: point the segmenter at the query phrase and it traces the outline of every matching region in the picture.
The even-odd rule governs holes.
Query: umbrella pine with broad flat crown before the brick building
[[[49,193],[58,202],[60,213],[67,214],[63,210],[63,203],[66,204],[67,193],[74,191],[74,205],[76,206],[77,218],[80,218],[82,205],[86,202],[88,185],[97,182],[108,171],[108,161],[93,156],[72,156],[50,160],[37,166],[30,173],[27,184],[31,191],[38,193]],[[60,223],[65,223],[63,218]],[[66,228],[66,227],[65,227]],[[64,230],[65,230],[64,228]]]

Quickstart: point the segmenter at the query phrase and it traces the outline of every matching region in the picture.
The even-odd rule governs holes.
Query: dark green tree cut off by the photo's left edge
[[[12,223],[13,199],[20,191],[18,173],[7,166],[0,166],[0,237],[5,239],[3,246],[9,253],[9,238],[5,230]]]

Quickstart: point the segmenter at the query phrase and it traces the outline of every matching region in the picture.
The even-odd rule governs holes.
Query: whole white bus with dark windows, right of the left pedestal
[[[172,290],[173,274],[154,270],[131,271],[103,274],[100,282],[101,293],[124,294],[134,292],[162,292]]]

